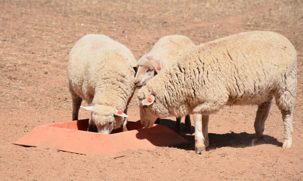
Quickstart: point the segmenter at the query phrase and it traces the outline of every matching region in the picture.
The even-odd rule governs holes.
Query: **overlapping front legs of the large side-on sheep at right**
[[[195,121],[195,153],[200,154],[208,147],[208,115],[194,114]]]

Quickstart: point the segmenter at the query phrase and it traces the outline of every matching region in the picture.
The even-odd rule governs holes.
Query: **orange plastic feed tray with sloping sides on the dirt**
[[[187,142],[167,126],[158,124],[145,129],[139,122],[128,121],[130,131],[122,132],[122,128],[119,128],[113,130],[112,134],[88,132],[87,128],[88,119],[38,126],[13,144],[55,147],[78,154],[116,155],[126,150]]]

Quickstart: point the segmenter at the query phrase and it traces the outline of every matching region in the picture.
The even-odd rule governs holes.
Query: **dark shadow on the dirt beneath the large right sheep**
[[[139,122],[139,121],[138,121]],[[170,119],[161,119],[161,125],[166,125],[168,128],[174,130],[175,129],[176,121],[172,121]],[[184,150],[195,150],[195,136],[191,135],[195,133],[195,127],[191,127],[191,132],[186,134],[185,131],[185,124],[181,123],[181,136],[184,137],[188,142],[185,144],[180,144],[176,146],[171,146],[179,149]],[[275,137],[264,135],[264,137],[259,140],[256,139],[255,134],[250,134],[247,132],[241,133],[225,133],[225,134],[215,134],[215,133],[208,133],[209,139],[209,146],[207,147],[206,151],[214,150],[216,148],[221,147],[233,147],[233,148],[245,148],[245,147],[252,147],[261,144],[272,144],[278,147],[282,147],[281,142],[279,142]]]

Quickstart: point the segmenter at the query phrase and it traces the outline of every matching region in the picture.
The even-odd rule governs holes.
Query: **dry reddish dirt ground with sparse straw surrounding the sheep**
[[[210,116],[210,147],[194,153],[194,134],[179,147],[80,155],[11,144],[36,126],[71,120],[68,53],[85,34],[105,34],[138,59],[162,36],[196,44],[250,30],[286,36],[298,53],[293,146],[282,149],[283,121],[273,105],[264,140],[254,142],[256,106],[226,107]],[[303,2],[6,1],[0,0],[0,180],[302,180]],[[134,100],[131,121],[139,120]],[[80,118],[89,113],[80,111]],[[166,124],[173,126],[175,119]],[[184,124],[182,125],[184,127]],[[192,128],[194,132],[194,128]]]

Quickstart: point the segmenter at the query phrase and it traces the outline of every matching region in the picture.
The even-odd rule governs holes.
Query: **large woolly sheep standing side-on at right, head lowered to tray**
[[[193,114],[195,153],[208,147],[209,115],[224,105],[258,105],[254,123],[263,138],[273,96],[284,124],[283,148],[292,144],[297,53],[271,31],[251,31],[195,46],[167,71],[150,79],[136,101],[145,128],[156,118]]]

